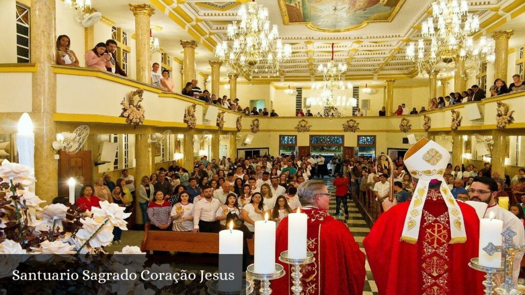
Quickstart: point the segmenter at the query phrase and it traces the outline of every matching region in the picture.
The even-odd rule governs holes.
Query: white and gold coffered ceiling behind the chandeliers
[[[211,70],[208,60],[215,59],[214,47],[217,43],[226,40],[227,24],[236,19],[240,5],[246,2],[247,0],[206,2],[150,0],[150,4],[157,10],[152,16],[151,23],[164,27],[163,31],[155,33],[161,39],[161,47],[179,59],[183,58],[181,39],[194,39],[201,43],[197,48],[197,70],[209,74]],[[346,79],[413,78],[417,75],[417,70],[412,62],[405,59],[405,47],[409,41],[416,41],[421,37],[420,24],[432,14],[429,10],[432,2],[432,0],[259,0],[258,4],[268,7],[270,23],[279,26],[280,38],[283,42],[292,45],[292,57],[281,65],[281,77],[254,77],[254,79],[256,81],[319,79],[316,69],[319,64],[330,60],[332,43],[334,60],[348,65]],[[93,3],[95,7],[101,6],[102,9],[99,11],[103,14],[116,18],[116,22],[119,20],[125,23],[123,26],[134,30],[131,13],[128,13],[128,8],[124,8],[129,1],[93,0]],[[119,17],[117,10],[114,10],[119,5],[128,9],[125,17]],[[288,9],[288,6],[302,7],[303,10],[309,7],[309,10],[305,13],[293,7],[296,10]],[[104,8],[108,10],[104,11],[106,10]],[[469,0],[469,8],[470,13],[479,16],[481,30],[475,37],[480,37],[513,22],[525,11],[525,1]],[[520,27],[523,27],[523,22]],[[514,34],[524,35],[522,32]]]

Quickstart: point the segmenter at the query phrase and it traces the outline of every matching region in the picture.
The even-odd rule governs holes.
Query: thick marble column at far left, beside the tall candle
[[[55,1],[31,0],[31,62],[38,65],[32,75],[32,111],[35,133],[36,195],[51,204],[58,196],[58,165],[52,144],[57,125],[53,113],[57,110],[55,64],[56,9]],[[65,180],[60,180],[65,181]]]

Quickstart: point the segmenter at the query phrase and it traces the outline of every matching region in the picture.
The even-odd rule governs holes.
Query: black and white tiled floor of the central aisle
[[[324,179],[324,182],[328,186],[328,190],[332,192],[332,196],[335,195],[335,187],[332,186],[332,179],[327,180]],[[364,237],[370,233],[370,228],[364,221],[363,216],[361,213],[359,213],[358,207],[355,205],[355,203],[352,201],[352,199],[348,200],[348,216],[335,216],[335,197],[332,197],[330,200],[330,209],[328,212],[334,216],[336,219],[344,220],[346,225],[348,226],[348,229],[352,233],[352,235],[355,238],[355,241],[359,244],[359,247],[361,251],[364,253],[363,248],[363,239]],[[341,213],[344,213],[343,205],[341,204]],[[370,266],[368,265],[368,260],[365,262],[365,268],[366,268],[366,279],[364,283],[364,290],[363,295],[377,295],[377,286],[375,285],[374,278],[372,276],[372,271],[370,271]]]

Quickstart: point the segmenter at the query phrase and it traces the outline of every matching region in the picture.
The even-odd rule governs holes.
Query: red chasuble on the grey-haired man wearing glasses
[[[364,254],[348,227],[326,210],[308,207],[301,210],[308,215],[308,251],[316,258],[311,264],[301,266],[302,293],[363,294]],[[276,235],[276,261],[285,267],[286,276],[271,281],[272,294],[292,294],[291,267],[279,261],[281,252],[288,249],[288,217],[281,220]]]

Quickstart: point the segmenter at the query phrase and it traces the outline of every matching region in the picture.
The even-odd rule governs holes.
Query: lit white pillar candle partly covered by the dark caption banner
[[[240,291],[243,274],[243,232],[233,229],[233,221],[229,223],[229,229],[219,232],[219,273],[234,273],[234,279],[231,281],[219,280],[220,291]]]

